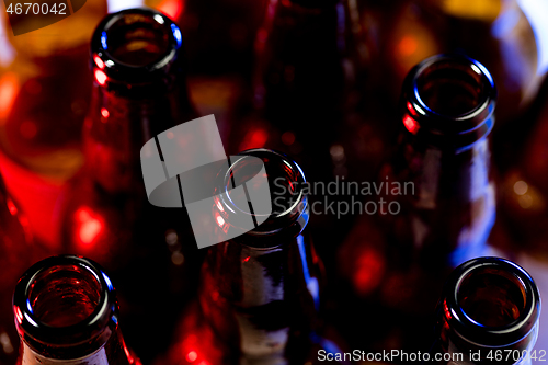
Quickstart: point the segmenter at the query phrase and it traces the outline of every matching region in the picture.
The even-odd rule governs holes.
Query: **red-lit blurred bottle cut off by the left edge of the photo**
[[[11,315],[11,294],[23,272],[45,254],[33,242],[28,220],[7,194],[0,175],[0,364],[14,363],[19,339]]]

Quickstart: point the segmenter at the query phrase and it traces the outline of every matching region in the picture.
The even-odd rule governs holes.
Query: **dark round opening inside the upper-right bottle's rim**
[[[419,75],[416,93],[434,113],[457,117],[486,102],[488,93],[482,78],[482,71],[473,64],[442,60]]]

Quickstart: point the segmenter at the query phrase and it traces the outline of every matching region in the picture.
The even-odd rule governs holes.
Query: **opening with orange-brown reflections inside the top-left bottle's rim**
[[[163,23],[162,16],[127,13],[105,26],[101,42],[118,64],[132,67],[153,65],[171,50],[172,31]]]

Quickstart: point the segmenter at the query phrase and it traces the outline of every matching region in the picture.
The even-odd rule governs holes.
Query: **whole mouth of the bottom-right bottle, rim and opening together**
[[[536,328],[538,289],[524,269],[507,260],[470,260],[455,270],[446,288],[445,320],[468,342],[509,346]]]

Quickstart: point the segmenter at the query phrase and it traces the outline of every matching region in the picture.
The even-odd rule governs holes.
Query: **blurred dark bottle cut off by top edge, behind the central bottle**
[[[231,151],[276,148],[295,156],[312,181],[331,176],[330,147],[367,61],[359,32],[354,1],[271,1],[255,39],[258,112],[233,132]]]

